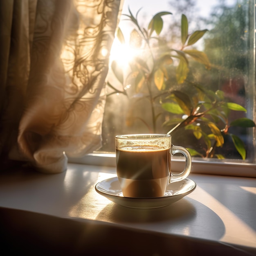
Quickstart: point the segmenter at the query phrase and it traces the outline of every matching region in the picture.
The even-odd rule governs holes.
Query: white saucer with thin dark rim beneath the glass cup
[[[124,197],[121,191],[119,181],[117,177],[113,177],[107,180],[98,182],[95,186],[95,190],[117,204],[140,209],[150,209],[164,207],[178,200],[182,199],[185,195],[191,193],[196,187],[193,180],[188,178],[172,182],[166,188],[166,192],[163,197],[160,198],[128,198]]]

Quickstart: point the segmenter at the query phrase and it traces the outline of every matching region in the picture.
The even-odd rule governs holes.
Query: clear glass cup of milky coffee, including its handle
[[[191,155],[182,146],[171,143],[168,134],[117,135],[116,171],[125,197],[163,197],[166,186],[185,179],[191,171]],[[171,156],[182,153],[185,157],[184,170],[171,172]]]

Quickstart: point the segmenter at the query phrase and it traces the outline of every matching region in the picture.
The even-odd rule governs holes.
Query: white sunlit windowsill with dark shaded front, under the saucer
[[[197,187],[191,194],[141,210],[95,191],[97,182],[113,176],[115,167],[71,163],[55,175],[0,173],[3,245],[37,255],[256,254],[254,178],[192,173]]]

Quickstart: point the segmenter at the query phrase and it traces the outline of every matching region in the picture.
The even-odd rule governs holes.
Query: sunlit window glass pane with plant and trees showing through
[[[125,0],[123,13],[99,151],[172,130],[194,157],[254,162],[254,1]]]

